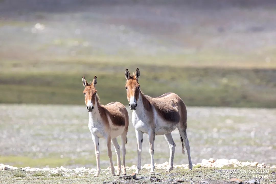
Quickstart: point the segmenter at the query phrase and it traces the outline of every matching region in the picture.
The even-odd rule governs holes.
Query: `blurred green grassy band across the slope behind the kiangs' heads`
[[[169,62],[169,60],[167,60]],[[81,77],[98,77],[102,104],[127,104],[124,70],[140,68],[141,89],[152,97],[178,94],[189,106],[276,107],[275,69],[186,67],[114,61],[2,62],[0,103],[84,105]],[[57,69],[58,67],[58,69]]]

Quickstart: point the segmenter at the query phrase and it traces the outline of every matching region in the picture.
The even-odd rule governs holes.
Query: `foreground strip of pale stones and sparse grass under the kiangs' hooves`
[[[201,164],[201,165],[200,165]],[[126,176],[111,176],[110,168],[102,169],[99,177],[92,177],[95,169],[85,167],[57,168],[17,168],[0,164],[0,182],[4,183],[274,183],[276,166],[267,167],[264,163],[239,162],[236,159],[203,160],[193,170],[186,166],[175,166],[171,172],[164,172],[168,163],[158,164],[155,174],[149,174],[147,166],[140,175],[133,173],[135,167],[127,167]],[[207,168],[207,167],[217,168]],[[187,166],[188,167],[188,166]],[[224,168],[224,169],[220,169]],[[2,171],[1,171],[2,170]],[[116,170],[116,167],[115,167]]]

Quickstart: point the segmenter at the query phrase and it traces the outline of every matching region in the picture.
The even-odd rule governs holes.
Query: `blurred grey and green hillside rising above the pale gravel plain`
[[[0,103],[127,103],[124,70],[153,97],[276,107],[275,1],[0,1]]]

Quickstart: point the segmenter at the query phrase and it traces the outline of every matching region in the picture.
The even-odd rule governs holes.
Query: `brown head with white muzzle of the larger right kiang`
[[[131,110],[136,110],[137,102],[140,94],[140,84],[138,78],[140,76],[139,68],[136,69],[136,72],[132,75],[129,74],[128,69],[125,71],[126,77],[126,96],[129,102],[129,108]]]

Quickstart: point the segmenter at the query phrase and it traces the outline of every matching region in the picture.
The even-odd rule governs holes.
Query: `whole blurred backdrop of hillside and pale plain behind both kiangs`
[[[145,94],[174,92],[188,106],[193,163],[276,164],[275,31],[272,0],[0,0],[0,162],[94,167],[81,78],[97,76],[102,104],[127,104],[124,70],[139,68]],[[188,163],[173,137],[175,164]],[[164,144],[157,136],[156,163],[169,159]]]

